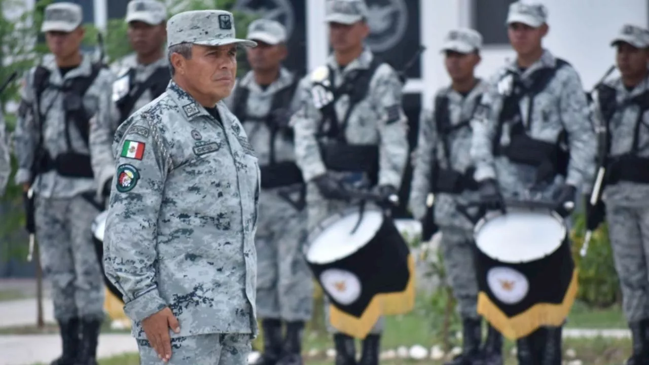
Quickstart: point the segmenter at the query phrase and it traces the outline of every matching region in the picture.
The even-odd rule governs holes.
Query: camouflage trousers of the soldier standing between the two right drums
[[[461,318],[480,319],[477,311],[478,280],[474,264],[473,232],[459,227],[439,227],[448,281],[458,301]]]

